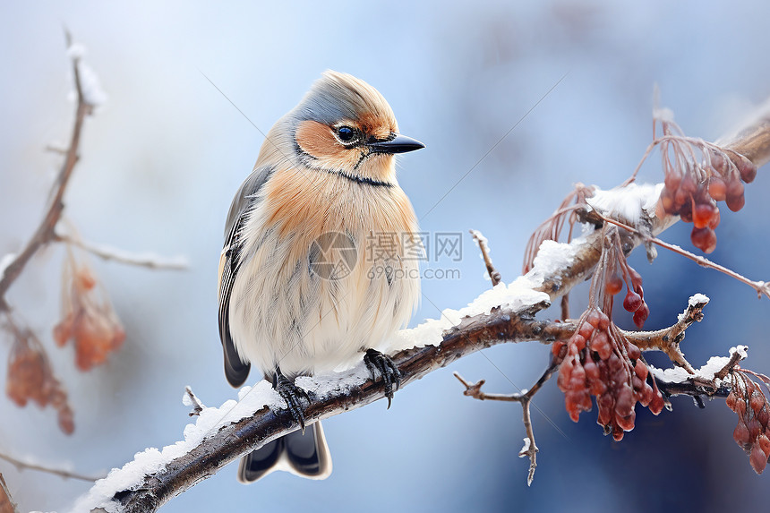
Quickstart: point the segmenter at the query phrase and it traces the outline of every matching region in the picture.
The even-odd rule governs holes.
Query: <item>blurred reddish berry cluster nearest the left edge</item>
[[[41,408],[53,406],[58,412],[59,429],[72,433],[75,425],[67,393],[56,380],[39,340],[30,331],[13,333],[5,393],[17,406],[26,406],[30,400]]]

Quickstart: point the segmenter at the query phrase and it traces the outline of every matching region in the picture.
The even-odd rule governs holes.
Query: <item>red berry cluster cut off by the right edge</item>
[[[749,463],[762,474],[770,458],[770,406],[760,386],[746,372],[733,371],[733,386],[727,406],[738,414],[732,438],[749,455]],[[766,376],[760,376],[766,380]]]

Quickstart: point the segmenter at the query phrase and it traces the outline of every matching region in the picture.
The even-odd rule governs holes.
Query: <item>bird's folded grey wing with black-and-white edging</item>
[[[272,167],[258,167],[246,178],[235,193],[225,225],[225,247],[219,257],[219,339],[225,354],[225,376],[227,381],[240,387],[249,375],[251,363],[244,363],[238,355],[230,335],[230,295],[241,267],[241,229],[248,213],[259,201],[256,198],[263,184],[270,178]]]

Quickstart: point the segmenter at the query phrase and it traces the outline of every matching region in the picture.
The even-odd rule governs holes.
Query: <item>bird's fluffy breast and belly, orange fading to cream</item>
[[[420,297],[423,246],[406,194],[290,169],[260,193],[231,306],[239,353],[295,373],[382,347]]]

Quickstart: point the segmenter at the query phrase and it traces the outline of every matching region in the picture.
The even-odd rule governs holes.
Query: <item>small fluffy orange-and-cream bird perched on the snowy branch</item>
[[[415,312],[424,255],[394,155],[421,148],[379,91],[328,71],[270,129],[235,193],[219,260],[225,375],[239,387],[256,366],[302,428],[243,457],[242,483],[331,473],[321,423],[304,432],[297,376],[363,356],[390,406],[401,375],[379,349]]]

